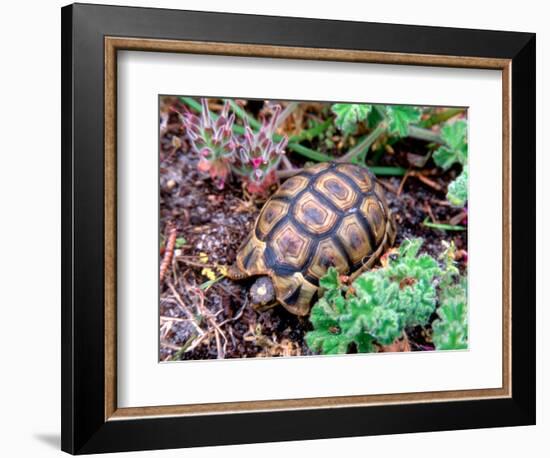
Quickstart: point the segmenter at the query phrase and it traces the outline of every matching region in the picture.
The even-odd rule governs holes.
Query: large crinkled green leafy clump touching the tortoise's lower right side
[[[353,343],[359,352],[372,352],[375,343],[389,345],[405,328],[427,324],[442,271],[433,257],[419,254],[421,245],[421,239],[405,241],[385,267],[363,273],[351,288],[330,268],[320,282],[326,292],[311,311],[308,346],[337,354]]]

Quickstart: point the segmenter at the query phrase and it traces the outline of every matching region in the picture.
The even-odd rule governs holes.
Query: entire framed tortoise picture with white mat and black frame
[[[535,423],[535,35],[62,9],[62,449]]]

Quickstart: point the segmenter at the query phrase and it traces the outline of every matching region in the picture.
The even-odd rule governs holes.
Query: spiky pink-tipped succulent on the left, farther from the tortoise
[[[237,141],[233,135],[235,115],[229,115],[229,103],[225,103],[220,116],[215,119],[205,98],[201,99],[201,115],[190,111],[183,115],[187,136],[192,148],[199,155],[198,169],[207,172],[219,189],[223,189],[231,172]]]

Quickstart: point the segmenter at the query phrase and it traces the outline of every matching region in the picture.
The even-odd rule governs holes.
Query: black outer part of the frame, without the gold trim
[[[512,397],[105,421],[105,36],[512,59]],[[74,4],[62,8],[61,42],[64,451],[535,424],[534,34]]]

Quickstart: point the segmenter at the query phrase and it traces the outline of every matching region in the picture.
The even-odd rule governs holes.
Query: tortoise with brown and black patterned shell
[[[228,277],[259,277],[250,290],[255,309],[279,302],[305,316],[329,267],[355,278],[393,245],[395,235],[383,189],[370,170],[320,163],[287,179],[264,204]]]

